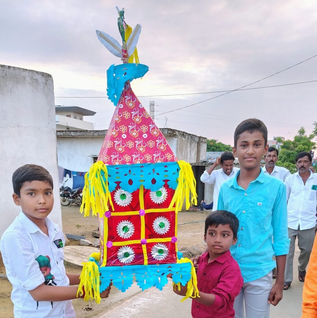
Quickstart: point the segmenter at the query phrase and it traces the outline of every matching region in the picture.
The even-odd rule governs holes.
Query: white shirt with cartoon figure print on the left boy
[[[42,265],[47,266],[48,262],[51,265],[47,282],[52,284],[53,280],[56,286],[69,286],[64,266],[63,232],[49,218],[45,224],[48,236],[21,211],[0,241],[6,274],[13,287],[11,300],[15,318],[76,317],[71,301],[37,302],[29,293],[45,282],[36,259],[41,260]],[[49,267],[45,271],[48,274]]]

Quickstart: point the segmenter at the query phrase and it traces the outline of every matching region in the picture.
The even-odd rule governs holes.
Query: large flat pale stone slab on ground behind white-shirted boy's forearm
[[[87,262],[91,253],[99,252],[99,248],[91,246],[68,245],[64,247],[64,261],[70,265],[82,267],[82,262]]]

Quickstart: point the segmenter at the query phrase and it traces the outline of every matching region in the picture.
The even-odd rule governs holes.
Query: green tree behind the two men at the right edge
[[[280,147],[277,165],[290,170],[291,173],[296,172],[296,156],[299,152],[307,151],[315,148],[315,135],[306,135],[304,127],[300,127],[293,140],[285,140]]]

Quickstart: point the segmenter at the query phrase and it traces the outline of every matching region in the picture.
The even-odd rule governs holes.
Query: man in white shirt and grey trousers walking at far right
[[[299,281],[305,281],[306,266],[313,248],[316,230],[317,174],[309,169],[311,163],[310,153],[300,152],[296,157],[298,171],[285,180],[288,236],[291,239],[291,244],[286,257],[284,290],[291,286],[293,280],[296,236],[300,250],[298,258]]]

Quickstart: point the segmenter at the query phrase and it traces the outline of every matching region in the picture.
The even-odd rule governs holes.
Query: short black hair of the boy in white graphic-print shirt
[[[46,181],[53,189],[53,178],[50,173],[36,164],[25,164],[13,172],[12,184],[14,193],[20,197],[20,190],[25,182]]]

